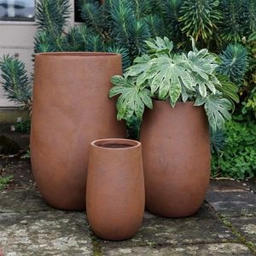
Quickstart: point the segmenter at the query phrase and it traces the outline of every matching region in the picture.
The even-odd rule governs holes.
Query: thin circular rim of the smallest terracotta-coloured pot
[[[119,145],[127,145],[128,147],[120,147],[120,148],[110,148],[110,147],[103,147],[104,145],[108,144],[119,144]],[[101,148],[104,150],[129,150],[131,148],[139,148],[141,147],[142,143],[136,141],[136,140],[130,140],[130,139],[123,139],[123,138],[105,138],[105,139],[99,139],[95,140],[90,143],[90,145],[94,148]]]

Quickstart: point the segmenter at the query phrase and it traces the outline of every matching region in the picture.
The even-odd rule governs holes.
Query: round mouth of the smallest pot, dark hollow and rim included
[[[93,147],[105,148],[105,149],[129,149],[129,148],[137,148],[141,145],[140,142],[137,142],[135,140],[118,139],[118,138],[96,140],[90,144]]]

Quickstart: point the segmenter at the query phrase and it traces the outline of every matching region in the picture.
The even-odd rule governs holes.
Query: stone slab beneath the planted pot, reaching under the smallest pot
[[[177,246],[193,243],[235,241],[229,229],[218,218],[160,218],[145,212],[143,226],[127,241],[103,241],[100,247]]]

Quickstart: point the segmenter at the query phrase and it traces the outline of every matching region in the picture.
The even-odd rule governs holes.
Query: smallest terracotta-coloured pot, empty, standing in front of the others
[[[143,221],[141,143],[105,139],[90,144],[86,208],[91,229],[107,240],[133,236]]]

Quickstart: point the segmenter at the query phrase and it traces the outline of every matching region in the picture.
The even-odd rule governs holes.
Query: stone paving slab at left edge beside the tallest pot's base
[[[0,212],[55,211],[37,190],[0,190]]]

